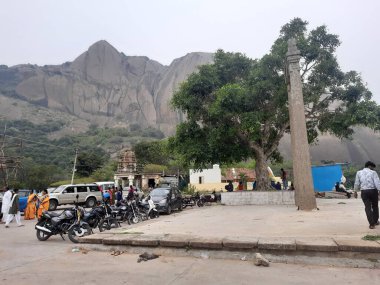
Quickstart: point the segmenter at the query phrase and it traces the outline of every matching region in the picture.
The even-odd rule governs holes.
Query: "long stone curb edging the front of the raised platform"
[[[195,237],[189,235],[93,234],[81,243],[146,247],[194,248],[210,250],[269,250],[289,252],[380,253],[380,242],[332,238]]]

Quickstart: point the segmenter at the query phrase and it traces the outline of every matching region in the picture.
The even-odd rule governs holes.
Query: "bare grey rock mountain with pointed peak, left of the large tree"
[[[190,53],[164,66],[99,41],[62,65],[0,66],[0,93],[99,126],[138,124],[172,134],[178,123],[168,104],[173,91],[211,61],[210,53]]]

